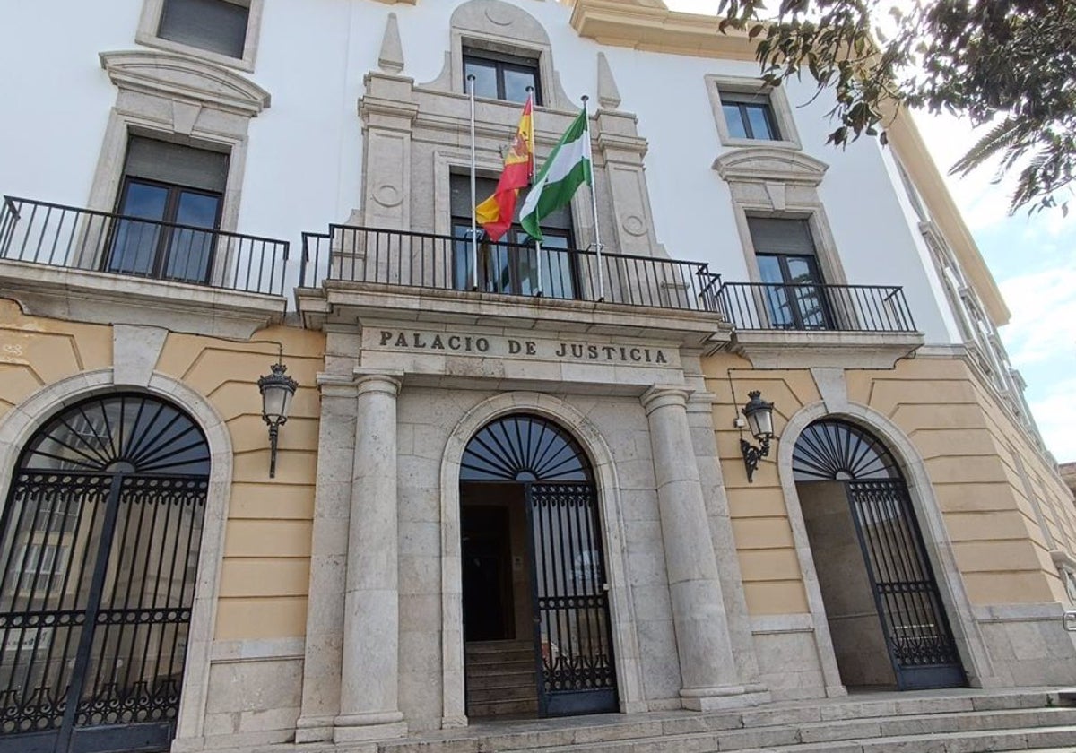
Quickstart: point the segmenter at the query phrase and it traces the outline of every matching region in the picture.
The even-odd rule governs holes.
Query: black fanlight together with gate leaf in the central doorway
[[[511,415],[471,439],[459,478],[524,485],[539,714],[615,711],[597,492],[582,447],[550,421]]]

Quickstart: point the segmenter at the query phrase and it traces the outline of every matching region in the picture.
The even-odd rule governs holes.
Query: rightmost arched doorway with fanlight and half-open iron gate
[[[825,418],[799,436],[792,469],[844,684],[967,684],[889,450],[859,426]]]

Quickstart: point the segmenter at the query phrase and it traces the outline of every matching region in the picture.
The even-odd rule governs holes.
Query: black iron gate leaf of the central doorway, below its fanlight
[[[615,711],[617,671],[594,485],[527,483],[538,713]]]

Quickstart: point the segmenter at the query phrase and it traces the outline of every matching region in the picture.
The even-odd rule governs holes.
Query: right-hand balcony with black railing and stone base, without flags
[[[760,368],[892,368],[923,343],[898,286],[725,283],[718,299],[730,350]]]

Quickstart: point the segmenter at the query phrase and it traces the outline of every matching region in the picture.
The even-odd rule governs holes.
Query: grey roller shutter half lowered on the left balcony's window
[[[223,194],[228,155],[132,136],[124,174]]]

